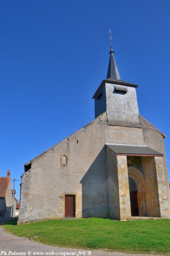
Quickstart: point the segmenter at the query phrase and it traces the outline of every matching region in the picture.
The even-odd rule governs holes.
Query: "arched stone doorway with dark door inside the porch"
[[[132,216],[146,216],[145,176],[135,167],[128,167],[129,192]]]

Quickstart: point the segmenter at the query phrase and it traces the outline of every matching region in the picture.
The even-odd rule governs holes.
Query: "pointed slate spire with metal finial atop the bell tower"
[[[109,31],[110,34],[110,60],[109,60],[109,64],[108,64],[108,70],[107,70],[107,78],[112,78],[115,80],[120,80],[120,75],[119,75],[119,71],[116,65],[116,61],[115,61],[115,57],[114,57],[114,51],[112,49],[112,38],[111,38],[111,30]]]

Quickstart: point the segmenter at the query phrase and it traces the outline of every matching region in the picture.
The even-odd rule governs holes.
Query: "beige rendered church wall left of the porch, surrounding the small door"
[[[76,217],[108,217],[106,120],[98,117],[32,161],[22,176],[19,224],[64,218],[65,194],[76,197]]]

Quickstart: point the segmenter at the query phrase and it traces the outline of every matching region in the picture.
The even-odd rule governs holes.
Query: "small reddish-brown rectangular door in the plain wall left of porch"
[[[75,217],[74,195],[65,195],[65,217]]]

